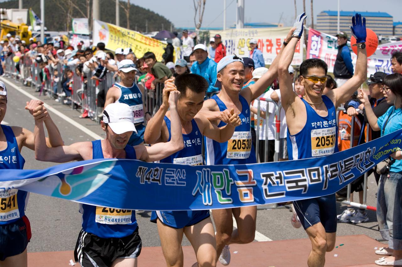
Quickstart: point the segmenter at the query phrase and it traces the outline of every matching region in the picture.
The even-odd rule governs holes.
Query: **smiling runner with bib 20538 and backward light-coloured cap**
[[[293,30],[289,31],[285,41],[289,42]],[[237,126],[233,136],[228,142],[219,143],[210,138],[205,138],[205,160],[207,165],[215,164],[250,164],[256,163],[256,156],[251,142],[250,130],[250,103],[262,93],[277,77],[278,61],[283,47],[272,62],[269,71],[256,83],[242,89],[245,82],[244,63],[236,55],[226,56],[217,65],[217,80],[215,87],[220,87],[219,94],[204,102],[200,111],[213,124],[218,127],[226,125],[227,121],[222,117],[222,112],[234,109],[239,114],[242,124]],[[241,141],[239,141],[241,140]],[[243,142],[246,146],[234,146]],[[254,240],[256,229],[256,206],[242,208],[228,208],[213,210],[213,220],[216,225],[216,246],[219,261],[223,265],[230,263],[230,251],[228,244],[245,244]],[[233,230],[233,217],[238,228]]]

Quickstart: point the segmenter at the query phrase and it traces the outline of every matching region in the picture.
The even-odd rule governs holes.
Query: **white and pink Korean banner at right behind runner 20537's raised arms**
[[[353,53],[349,41],[347,44],[351,51],[353,66],[356,66],[357,56]],[[392,73],[391,55],[396,51],[402,51],[402,41],[379,44],[374,54],[367,58],[367,77],[370,77],[370,75],[374,74],[376,71],[383,71],[387,74]],[[336,55],[338,54],[336,37],[310,28],[306,54],[306,58],[308,59],[322,59],[327,63],[328,71],[333,72]]]

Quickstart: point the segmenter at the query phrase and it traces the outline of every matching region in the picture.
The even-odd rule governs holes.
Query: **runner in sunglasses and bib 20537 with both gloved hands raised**
[[[338,151],[336,107],[349,99],[367,78],[365,18],[362,19],[356,13],[351,27],[357,39],[355,74],[341,87],[323,95],[328,66],[321,59],[307,59],[300,65],[301,83],[306,93],[304,99],[301,99],[293,91],[288,67],[303,33],[305,19],[304,13],[297,17],[294,24],[296,29],[283,51],[278,67],[282,107],[286,112],[289,160],[326,156]],[[293,205],[312,243],[308,266],[324,266],[326,251],[332,251],[335,245],[335,194],[294,201]]]

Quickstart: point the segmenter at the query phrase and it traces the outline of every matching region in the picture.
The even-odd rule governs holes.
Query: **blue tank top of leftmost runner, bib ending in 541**
[[[24,168],[25,160],[18,149],[18,143],[10,126],[1,125],[7,140],[7,148],[0,151],[0,169]],[[0,225],[13,223],[25,215],[27,192],[9,189],[0,192]]]

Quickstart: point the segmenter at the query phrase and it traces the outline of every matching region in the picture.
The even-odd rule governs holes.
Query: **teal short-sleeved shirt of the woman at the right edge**
[[[385,125],[383,134],[384,123],[387,121],[388,116],[390,116],[390,118]],[[377,125],[380,128],[381,136],[402,129],[402,109],[398,108],[394,110],[394,106],[390,107],[384,115],[378,118]],[[402,173],[402,160],[396,160],[395,163],[391,165],[390,172]]]

